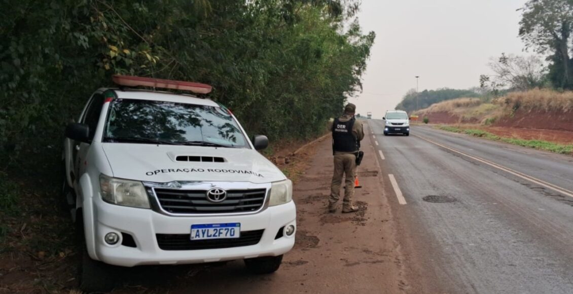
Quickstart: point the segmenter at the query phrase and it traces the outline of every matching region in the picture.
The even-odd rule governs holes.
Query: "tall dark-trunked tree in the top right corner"
[[[551,54],[548,60],[554,87],[573,89],[573,62],[569,44],[573,30],[573,1],[529,0],[522,11],[519,36],[526,49]]]

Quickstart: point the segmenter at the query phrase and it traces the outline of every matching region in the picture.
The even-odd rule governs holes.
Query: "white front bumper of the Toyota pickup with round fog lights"
[[[94,238],[93,243],[88,242],[88,253],[92,259],[112,265],[194,264],[278,256],[291,250],[295,244],[295,233],[287,236],[284,232],[289,225],[294,226],[296,230],[296,207],[293,201],[267,207],[256,214],[216,217],[206,215],[174,217],[151,209],[95,201],[93,213]],[[253,245],[237,246],[236,243],[231,247],[225,247],[225,240],[229,239],[221,239],[217,246],[211,246],[215,247],[213,249],[177,250],[176,247],[175,249],[169,247],[169,242],[174,240],[172,236],[176,239],[176,245],[193,246],[194,244],[190,242],[194,241],[185,237],[191,233],[191,225],[231,222],[241,224],[241,236],[250,235],[249,244]],[[108,233],[118,234],[120,240],[114,245],[109,245],[104,240]],[[129,236],[133,241],[128,240]],[[93,248],[89,248],[90,246]]]

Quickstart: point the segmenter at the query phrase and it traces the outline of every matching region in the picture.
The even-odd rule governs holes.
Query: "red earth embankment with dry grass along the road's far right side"
[[[427,117],[430,124],[450,126],[439,127],[442,130],[521,146],[570,154],[573,144],[573,92],[534,89],[508,93],[491,101],[460,98],[433,104],[414,114]]]

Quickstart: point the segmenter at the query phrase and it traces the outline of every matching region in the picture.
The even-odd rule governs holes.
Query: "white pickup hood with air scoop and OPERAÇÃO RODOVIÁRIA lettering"
[[[252,149],[129,143],[103,143],[102,147],[116,178],[158,183],[268,183],[286,179],[272,162]],[[222,162],[205,161],[210,158]]]

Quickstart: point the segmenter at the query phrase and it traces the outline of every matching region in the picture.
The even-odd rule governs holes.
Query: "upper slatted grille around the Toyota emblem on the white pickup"
[[[245,213],[259,210],[265,203],[266,189],[228,190],[227,198],[213,203],[205,190],[155,189],[159,205],[169,213]]]

